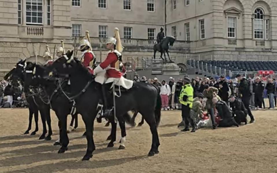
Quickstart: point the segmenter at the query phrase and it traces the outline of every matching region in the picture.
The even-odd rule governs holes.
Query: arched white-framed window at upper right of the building
[[[269,19],[265,19],[264,11],[261,8],[256,8],[254,11],[254,38],[268,39],[269,38]]]

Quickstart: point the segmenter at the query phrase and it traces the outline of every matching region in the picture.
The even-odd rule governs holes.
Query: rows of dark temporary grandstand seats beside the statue
[[[187,69],[195,72],[220,76],[230,76],[230,72],[258,72],[259,70],[277,71],[277,61],[211,61],[188,60]]]

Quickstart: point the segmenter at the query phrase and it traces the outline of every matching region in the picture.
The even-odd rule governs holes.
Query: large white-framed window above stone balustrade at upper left
[[[26,24],[42,25],[42,0],[26,0]]]

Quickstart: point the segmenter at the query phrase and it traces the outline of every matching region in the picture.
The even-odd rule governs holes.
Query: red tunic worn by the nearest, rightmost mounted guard
[[[103,61],[100,64],[100,67],[102,69],[105,69],[108,66],[110,66],[111,68],[115,68],[116,67],[116,61],[118,61],[116,53],[110,52],[110,53],[108,53],[108,56],[105,59],[105,61]],[[120,78],[122,76],[120,71],[118,71],[116,69],[109,69],[109,68],[106,71],[106,75],[107,75],[107,78]]]

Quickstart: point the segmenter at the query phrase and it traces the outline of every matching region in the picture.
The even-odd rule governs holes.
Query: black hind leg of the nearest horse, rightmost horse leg
[[[153,156],[159,153],[158,147],[160,145],[154,110],[142,110],[140,111],[140,113],[150,126],[150,130],[152,133],[152,145],[148,156]]]

